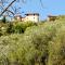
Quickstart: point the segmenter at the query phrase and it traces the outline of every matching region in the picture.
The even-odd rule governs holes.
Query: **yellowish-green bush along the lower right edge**
[[[57,29],[50,42],[50,55],[48,65],[65,65],[65,26]]]

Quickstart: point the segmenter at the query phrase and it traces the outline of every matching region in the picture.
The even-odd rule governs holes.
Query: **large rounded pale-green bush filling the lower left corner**
[[[23,37],[23,38],[22,38]],[[35,58],[35,47],[27,36],[11,35],[0,38],[1,65],[31,65]]]

